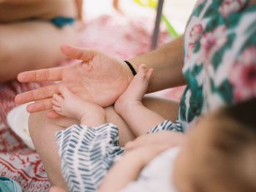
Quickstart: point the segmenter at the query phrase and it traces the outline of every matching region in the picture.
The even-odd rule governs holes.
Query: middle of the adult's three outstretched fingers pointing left
[[[33,91],[20,93],[15,96],[16,104],[25,104],[30,101],[37,101],[40,99],[47,99],[53,96],[53,94],[59,93],[59,84],[48,85],[44,88],[38,88]]]

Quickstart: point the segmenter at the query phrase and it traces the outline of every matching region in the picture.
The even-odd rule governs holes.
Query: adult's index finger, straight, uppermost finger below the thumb
[[[56,67],[50,69],[40,69],[18,74],[19,82],[42,82],[62,80],[65,67]]]

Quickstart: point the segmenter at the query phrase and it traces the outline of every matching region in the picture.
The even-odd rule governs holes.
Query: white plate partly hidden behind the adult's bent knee
[[[13,108],[7,114],[7,123],[22,140],[31,149],[34,150],[34,144],[29,134],[29,112],[26,111],[28,104],[21,104]]]

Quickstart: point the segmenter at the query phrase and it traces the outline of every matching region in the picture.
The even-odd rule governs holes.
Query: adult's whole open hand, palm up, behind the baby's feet
[[[69,58],[79,59],[82,62],[72,66],[20,73],[18,75],[20,82],[57,82],[34,91],[20,93],[15,97],[17,104],[36,101],[27,107],[29,112],[49,110],[52,107],[53,94],[59,93],[59,87],[65,85],[83,99],[108,107],[118,99],[132,80],[132,74],[124,62],[97,50],[64,45],[61,51]],[[50,112],[48,117],[54,115],[56,114]]]

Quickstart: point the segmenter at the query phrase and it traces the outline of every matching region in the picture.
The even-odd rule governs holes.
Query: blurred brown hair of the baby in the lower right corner
[[[224,107],[211,115],[214,131],[195,173],[197,192],[256,191],[256,99]],[[211,183],[211,188],[207,185]]]

